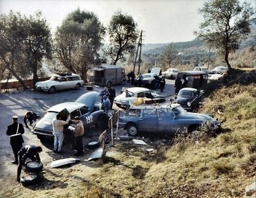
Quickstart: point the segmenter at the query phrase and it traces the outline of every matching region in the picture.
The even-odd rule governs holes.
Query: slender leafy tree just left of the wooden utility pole
[[[108,34],[110,36],[108,52],[113,64],[123,59],[125,53],[134,53],[139,32],[137,31],[137,23],[132,16],[122,14],[120,11],[115,12],[108,26]]]

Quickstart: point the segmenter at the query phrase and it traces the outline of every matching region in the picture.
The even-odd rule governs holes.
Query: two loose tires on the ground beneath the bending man
[[[37,184],[40,179],[38,173],[43,170],[43,164],[37,161],[30,161],[26,163],[25,167],[26,171],[29,172],[29,175],[21,177],[21,184],[23,184],[23,186],[32,186]]]

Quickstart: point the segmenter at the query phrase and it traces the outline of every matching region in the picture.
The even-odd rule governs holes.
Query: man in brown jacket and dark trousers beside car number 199
[[[84,154],[83,150],[83,135],[84,135],[84,124],[82,121],[80,121],[79,117],[75,117],[75,123],[76,123],[76,128],[75,128],[75,148],[77,152],[75,153],[75,156],[80,156]]]

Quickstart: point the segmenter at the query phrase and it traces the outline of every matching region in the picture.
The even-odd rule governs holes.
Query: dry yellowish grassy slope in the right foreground
[[[224,121],[222,134],[183,139],[150,157],[116,146],[122,154],[107,157],[94,175],[100,186],[117,197],[242,196],[255,177],[255,87],[221,88],[204,102],[200,112]]]

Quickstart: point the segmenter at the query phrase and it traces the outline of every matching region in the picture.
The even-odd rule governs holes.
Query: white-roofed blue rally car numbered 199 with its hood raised
[[[87,92],[76,99],[75,102],[60,103],[49,108],[36,126],[32,129],[33,134],[36,134],[38,139],[44,137],[53,137],[52,134],[52,119],[57,114],[62,115],[62,119],[67,119],[67,114],[71,114],[71,120],[76,116],[80,118],[80,121],[84,124],[84,127],[99,125],[102,121],[102,117],[106,116],[103,110],[100,109],[101,104],[97,103],[100,93]],[[71,123],[70,123],[71,124]],[[67,130],[67,125],[64,128],[64,133]]]

